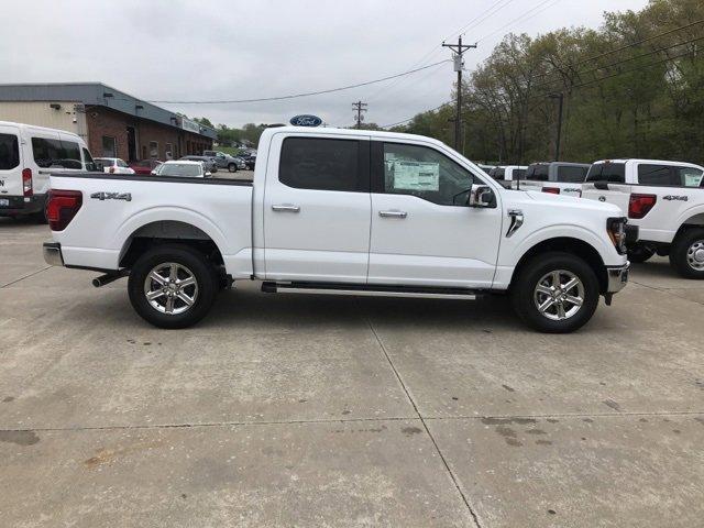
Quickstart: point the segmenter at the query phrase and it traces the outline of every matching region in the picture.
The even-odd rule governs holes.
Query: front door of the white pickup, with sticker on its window
[[[421,142],[372,142],[369,283],[491,287],[503,215],[501,196],[466,206],[482,178]]]

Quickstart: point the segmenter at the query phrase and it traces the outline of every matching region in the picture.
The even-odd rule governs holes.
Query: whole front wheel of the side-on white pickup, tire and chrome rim
[[[573,286],[566,290],[554,288],[554,273],[558,273],[561,286],[570,283]],[[538,292],[539,286],[543,292]],[[514,310],[526,324],[540,332],[569,333],[580,329],[594,315],[600,286],[594,271],[584,260],[571,253],[549,252],[534,256],[521,266],[510,294]],[[559,295],[561,300],[556,302],[549,295]],[[570,297],[580,298],[581,305],[571,302]],[[552,304],[540,311],[538,304],[544,305],[548,300]]]

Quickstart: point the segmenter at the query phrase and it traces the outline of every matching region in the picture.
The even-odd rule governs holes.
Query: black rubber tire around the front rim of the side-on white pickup
[[[536,297],[547,300],[546,294],[538,294],[536,289],[540,280],[554,271],[563,271],[568,274],[576,277],[583,289],[582,305],[571,316],[564,319],[551,319],[550,317],[560,317],[558,302],[551,306],[543,315],[537,306]],[[565,283],[569,283],[569,275],[561,274]],[[578,288],[574,286],[573,288]],[[568,293],[574,293],[575,289],[570,289]],[[584,326],[594,315],[596,307],[598,306],[600,286],[598,279],[594,274],[594,271],[590,265],[579,256],[571,253],[562,252],[549,252],[541,255],[534,256],[518,271],[518,275],[515,277],[512,285],[512,304],[516,314],[528,324],[529,327],[546,333],[569,333],[580,329]],[[558,295],[558,294],[556,294]],[[576,297],[576,296],[575,296]],[[568,302],[568,301],[564,301]],[[562,305],[565,306],[565,305]],[[574,308],[574,305],[569,305],[570,310],[565,311],[565,315]],[[551,314],[554,311],[554,314]]]

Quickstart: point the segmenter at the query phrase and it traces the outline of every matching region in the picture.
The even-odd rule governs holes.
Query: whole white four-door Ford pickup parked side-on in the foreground
[[[443,143],[376,131],[272,128],[254,182],[52,176],[51,264],[129,275],[140,316],[202,318],[216,293],[474,299],[569,332],[628,276],[616,206],[504,189]]]

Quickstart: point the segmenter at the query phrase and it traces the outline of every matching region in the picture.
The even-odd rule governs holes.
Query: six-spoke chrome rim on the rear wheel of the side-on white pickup
[[[196,302],[198,282],[186,266],[165,262],[152,268],[144,279],[144,296],[155,310],[176,316]]]

